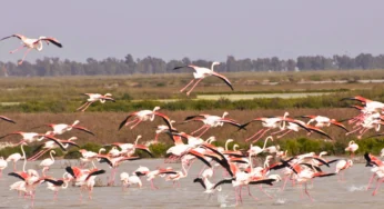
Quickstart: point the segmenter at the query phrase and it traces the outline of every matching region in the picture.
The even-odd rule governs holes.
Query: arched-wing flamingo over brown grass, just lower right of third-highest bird
[[[160,110],[160,107],[154,107],[153,110],[141,110],[141,111],[137,111],[137,112],[132,112],[130,113],[119,126],[119,130],[124,127],[128,126],[130,123],[135,122],[133,126],[131,126],[131,129],[133,129],[135,126],[138,126],[140,122],[142,121],[153,121],[154,120],[154,116],[161,117],[165,123],[168,125],[168,127],[170,129],[172,129],[170,119],[168,118],[168,116],[156,112],[158,110]],[[132,121],[128,122],[128,119],[130,119],[131,117],[134,117],[134,119]]]

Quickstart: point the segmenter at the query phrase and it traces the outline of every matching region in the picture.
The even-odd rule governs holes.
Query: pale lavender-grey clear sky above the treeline
[[[26,4],[27,7],[24,7]],[[381,54],[384,1],[372,0],[18,0],[2,2],[0,37],[54,37],[27,60],[59,57],[85,62],[148,56],[164,60],[282,59],[299,56]],[[0,61],[19,39],[0,42]]]

